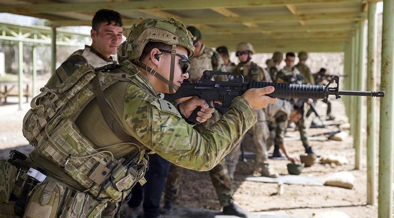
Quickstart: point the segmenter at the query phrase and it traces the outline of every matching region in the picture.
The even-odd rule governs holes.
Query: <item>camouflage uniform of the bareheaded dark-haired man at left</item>
[[[47,87],[53,87],[65,82],[68,77],[78,67],[83,65],[93,65],[95,68],[102,67],[108,64],[116,64],[116,56],[110,56],[110,58],[104,57],[94,48],[85,45],[85,49],[77,50],[72,53],[65,62],[60,65],[56,72],[51,76],[49,81],[46,83]]]

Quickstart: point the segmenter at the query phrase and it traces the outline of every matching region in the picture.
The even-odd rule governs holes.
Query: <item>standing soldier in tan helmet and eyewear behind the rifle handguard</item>
[[[236,66],[235,72],[239,75],[243,75],[244,78],[249,81],[272,82],[269,74],[251,60],[254,53],[255,50],[250,43],[239,43],[236,47],[236,55],[240,63]],[[263,109],[256,110],[256,114],[258,121],[251,129],[256,147],[253,175],[276,178],[279,174],[275,172],[268,163],[267,142],[269,139],[269,130],[265,111]],[[236,146],[234,150],[235,149],[240,149],[240,145]],[[235,166],[239,160],[239,152],[234,152],[234,150],[229,154],[233,157],[227,157],[230,174],[234,173]]]

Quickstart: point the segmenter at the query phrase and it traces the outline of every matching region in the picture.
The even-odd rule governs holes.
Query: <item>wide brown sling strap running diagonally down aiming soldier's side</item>
[[[95,78],[93,78],[93,91],[95,92],[97,102],[99,103],[102,115],[105,118],[108,126],[111,128],[112,132],[118,136],[123,142],[132,142],[135,143],[137,140],[126,133],[123,129],[122,125],[115,119],[111,110],[109,109],[108,102],[105,100],[104,92],[102,91],[100,81],[99,81],[99,72],[96,72]],[[141,149],[148,150],[147,147],[143,146],[141,143],[135,143]]]

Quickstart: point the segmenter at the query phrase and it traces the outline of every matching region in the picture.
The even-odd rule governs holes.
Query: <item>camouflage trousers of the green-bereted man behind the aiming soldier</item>
[[[202,132],[217,122],[220,116],[220,113],[215,110],[210,119],[200,125],[197,125],[195,128],[197,131]],[[178,195],[183,170],[184,169],[182,167],[173,164],[170,166],[167,180],[165,181],[164,200],[175,200]],[[220,204],[223,207],[229,205],[232,200],[232,190],[225,159],[209,170],[209,176],[211,177],[211,181],[218,195]]]

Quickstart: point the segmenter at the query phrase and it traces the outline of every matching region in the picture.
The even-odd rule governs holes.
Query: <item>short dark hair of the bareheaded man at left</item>
[[[102,23],[107,23],[107,25],[113,24],[118,27],[123,26],[122,16],[119,14],[119,12],[108,9],[101,9],[96,12],[92,20],[92,28],[98,31],[99,25]]]

